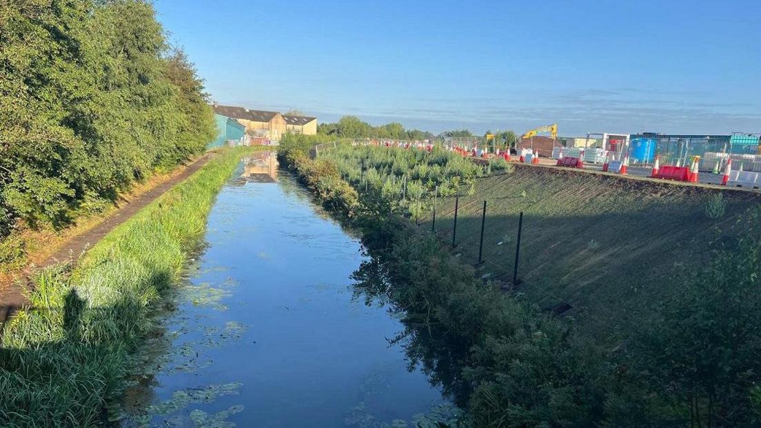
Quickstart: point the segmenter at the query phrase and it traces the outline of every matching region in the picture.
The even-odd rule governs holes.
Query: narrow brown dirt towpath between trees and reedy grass
[[[123,206],[120,206],[119,209],[104,219],[103,222],[100,222],[88,231],[69,239],[58,251],[56,251],[56,253],[40,264],[40,267],[47,267],[59,262],[75,260],[80,254],[88,248],[91,248],[94,244],[100,241],[100,239],[106,236],[108,232],[111,232],[113,228],[126,222],[134,216],[135,213],[139,212],[153,200],[158,198],[158,196],[161,196],[171,187],[174,187],[176,184],[179,184],[193,175],[193,173],[205,165],[213,155],[213,153],[207,153],[196,159],[196,161],[193,161],[192,164],[180,167],[182,168],[182,171],[178,174],[164,180],[157,186],[151,188],[151,190],[148,190],[139,196],[135,196],[132,200],[126,201],[123,203]],[[26,270],[22,275],[23,278],[27,279],[27,285],[29,283],[28,278],[32,273],[32,270]],[[21,283],[0,284],[0,329],[2,329],[2,323],[8,319],[8,316],[13,314],[13,312],[17,311],[19,308],[24,307],[26,304],[27,299],[26,296],[24,296],[24,289],[21,286]]]

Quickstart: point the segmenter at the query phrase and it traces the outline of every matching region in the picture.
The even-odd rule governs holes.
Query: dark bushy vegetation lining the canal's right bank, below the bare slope
[[[412,215],[409,203],[403,193],[389,191],[389,180],[368,180],[366,174],[352,179],[347,172],[368,171],[368,166],[377,169],[368,161],[376,155],[364,150],[329,150],[313,161],[284,147],[282,157],[292,160],[291,168],[319,190],[323,202],[326,195],[345,202],[326,206],[361,231],[374,256],[355,274],[359,292],[382,295],[390,302],[405,325],[397,340],[409,360],[421,364],[431,382],[442,385],[445,393],[467,408],[464,425],[666,427],[761,422],[761,390],[756,386],[761,381],[757,359],[761,352],[761,296],[757,292],[761,233],[753,200],[727,196],[724,213],[716,216],[721,209],[698,194],[699,211],[693,207],[677,219],[664,220],[711,228],[713,238],[706,235],[703,242],[710,257],[700,260],[694,271],[664,267],[662,275],[669,279],[671,292],[649,302],[648,317],[616,331],[622,340],[610,347],[607,340],[582,334],[572,318],[543,311],[525,293],[505,292],[484,280],[482,271],[463,262],[463,255],[470,252],[463,249],[452,254],[447,240],[403,219]],[[417,152],[414,156],[430,164],[433,155]],[[385,156],[383,174],[395,174],[396,156],[390,152]],[[399,173],[406,180],[415,174],[409,169]],[[495,191],[504,189],[503,183],[518,174],[476,174],[472,190],[465,194],[477,197],[479,180],[498,180]],[[387,178],[393,184],[399,175]],[[568,187],[573,185],[572,178],[559,180]],[[425,180],[426,187],[433,187],[431,181],[435,182],[431,177]],[[538,181],[527,189],[526,180],[518,182],[524,187],[517,196],[502,196],[505,202],[517,205],[511,198],[528,197],[529,190],[541,194],[526,203],[525,211],[551,205],[553,196],[564,188],[557,184],[546,190]],[[661,190],[671,187],[664,185]],[[703,191],[686,189],[683,196]],[[627,199],[624,189],[610,183],[607,188],[577,188],[561,199],[575,196],[587,201],[596,193],[610,195],[620,206],[618,214],[611,215],[635,210],[640,202],[636,196]],[[575,200],[569,203],[583,210],[584,205]],[[688,200],[680,202],[689,207]],[[713,206],[708,210],[711,216],[706,216],[706,206]],[[658,213],[657,207],[645,206],[642,216],[647,216],[648,209]],[[706,225],[697,219],[698,212],[713,222]],[[548,219],[545,225],[558,221]],[[680,244],[681,237],[674,242]],[[591,247],[587,242],[587,248]]]

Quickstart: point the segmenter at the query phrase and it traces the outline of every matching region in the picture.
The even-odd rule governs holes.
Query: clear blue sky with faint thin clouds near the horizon
[[[221,104],[434,132],[761,132],[761,0],[155,5]]]

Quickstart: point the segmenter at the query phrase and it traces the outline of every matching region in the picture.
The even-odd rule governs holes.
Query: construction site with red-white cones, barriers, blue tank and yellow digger
[[[759,140],[761,133],[707,136],[587,133],[583,137],[563,137],[552,123],[527,131],[513,143],[499,141],[490,133],[483,137],[444,138],[441,143],[463,155],[480,158],[502,157],[532,164],[759,190]]]

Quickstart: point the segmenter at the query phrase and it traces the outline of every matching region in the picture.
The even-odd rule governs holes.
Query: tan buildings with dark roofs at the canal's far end
[[[232,117],[246,127],[253,138],[266,138],[278,142],[285,133],[317,134],[317,117],[282,115],[276,111],[248,110],[244,107],[214,104],[214,112]]]

